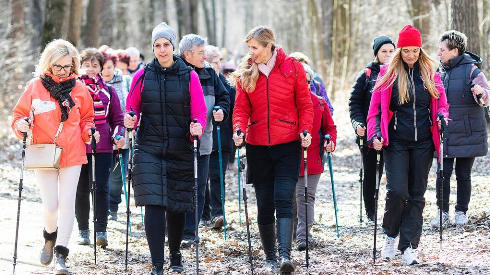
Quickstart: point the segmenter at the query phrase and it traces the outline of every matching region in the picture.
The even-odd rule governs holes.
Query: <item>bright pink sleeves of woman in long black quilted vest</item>
[[[133,91],[126,98],[126,113],[133,110],[136,113],[136,125],[140,120],[141,114],[141,90],[145,83],[145,78],[143,81],[136,83],[140,76],[143,74],[144,68],[139,69],[133,76],[133,81],[131,82],[131,89]],[[136,86],[136,88],[135,88]],[[197,119],[197,122],[202,125],[202,130],[206,128],[207,121],[207,108],[204,101],[204,93],[202,92],[201,82],[199,81],[199,76],[195,71],[190,72],[190,117],[191,119]],[[133,90],[134,89],[134,90]]]

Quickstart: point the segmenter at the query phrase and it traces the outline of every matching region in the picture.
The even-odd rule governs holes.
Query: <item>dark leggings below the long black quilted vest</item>
[[[172,212],[162,206],[145,205],[145,233],[153,265],[163,264],[165,258],[165,231],[168,232],[170,254],[180,251],[184,226],[185,213]]]

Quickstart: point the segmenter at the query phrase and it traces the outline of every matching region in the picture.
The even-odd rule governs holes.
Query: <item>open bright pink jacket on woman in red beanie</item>
[[[388,65],[381,65],[378,74],[378,79],[381,79],[386,74]],[[439,99],[431,97],[431,116],[432,121],[436,121],[438,114],[443,114],[445,119],[449,117],[449,104],[444,92],[444,85],[441,81],[441,76],[436,73],[434,75],[434,82],[436,83],[437,91],[440,94]],[[381,136],[384,139],[383,146],[389,144],[388,137],[388,125],[390,124],[393,112],[390,111],[391,90],[393,86],[380,87],[372,92],[371,104],[369,105],[369,112],[367,114],[367,137],[371,140],[377,133],[381,132]],[[432,141],[436,147],[437,156],[440,154],[440,141],[439,141],[439,127],[437,123],[433,123],[431,126]],[[369,145],[372,147],[372,143]]]

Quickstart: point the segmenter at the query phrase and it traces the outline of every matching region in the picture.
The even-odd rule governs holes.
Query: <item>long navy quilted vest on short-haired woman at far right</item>
[[[480,73],[474,64],[480,63],[482,59],[479,56],[465,52],[449,60],[448,65],[441,64],[441,79],[450,113],[444,157],[469,158],[487,154],[485,113],[471,91],[472,81]]]

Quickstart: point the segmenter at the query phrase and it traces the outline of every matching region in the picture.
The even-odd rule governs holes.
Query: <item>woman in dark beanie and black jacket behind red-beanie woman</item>
[[[367,64],[355,79],[350,92],[349,111],[352,127],[357,135],[356,143],[363,140],[359,147],[362,154],[363,182],[362,196],[366,210],[367,222],[374,222],[374,193],[376,191],[376,152],[369,150],[366,139],[367,113],[374,84],[379,74],[379,66],[388,63],[395,52],[395,42],[388,36],[378,36],[373,41],[374,60]],[[379,177],[383,174],[383,154],[381,154]]]

